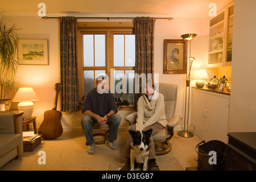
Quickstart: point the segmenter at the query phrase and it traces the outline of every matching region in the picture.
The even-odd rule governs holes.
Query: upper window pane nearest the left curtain
[[[84,67],[93,67],[93,35],[83,35]]]

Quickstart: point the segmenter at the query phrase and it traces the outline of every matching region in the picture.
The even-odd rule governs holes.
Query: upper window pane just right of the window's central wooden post
[[[114,35],[114,67],[123,67],[125,58],[124,35]]]

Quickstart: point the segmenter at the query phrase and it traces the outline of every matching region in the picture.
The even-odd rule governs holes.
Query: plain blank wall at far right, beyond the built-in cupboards
[[[256,131],[256,1],[234,2],[229,132]]]

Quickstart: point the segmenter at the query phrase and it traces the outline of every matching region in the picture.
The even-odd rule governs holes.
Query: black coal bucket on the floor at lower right
[[[219,140],[210,140],[207,143],[203,140],[197,144],[197,169],[202,171],[223,171],[225,146],[225,143]],[[209,152],[211,153],[210,155]]]

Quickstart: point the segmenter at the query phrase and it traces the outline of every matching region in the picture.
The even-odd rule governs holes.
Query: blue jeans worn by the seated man
[[[117,139],[117,131],[121,122],[121,117],[119,114],[113,114],[109,117],[106,124],[109,125],[109,135],[107,139],[109,142],[114,142]],[[84,130],[86,137],[86,146],[90,146],[94,143],[92,125],[98,123],[96,119],[89,117],[89,115],[84,115],[81,120],[82,130]]]

